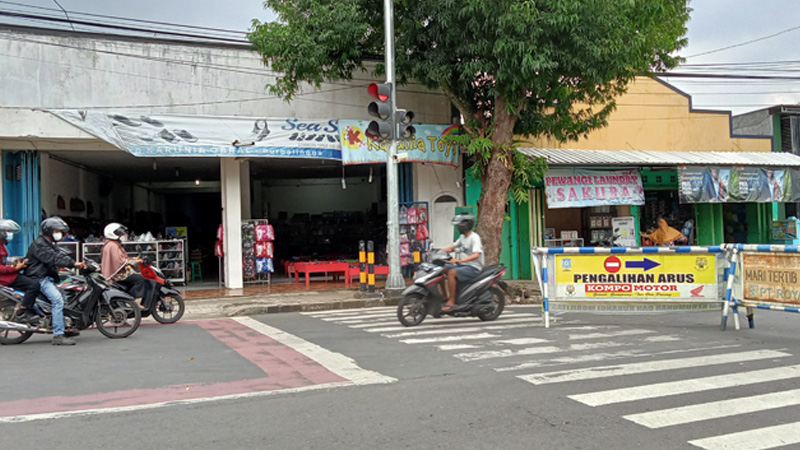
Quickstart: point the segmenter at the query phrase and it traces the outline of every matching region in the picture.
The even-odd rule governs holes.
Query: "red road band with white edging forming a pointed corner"
[[[223,341],[268,373],[284,373],[286,368],[265,367],[270,358],[282,361],[292,370],[292,376],[267,376],[263,378],[220,383],[189,383],[162,386],[153,389],[133,389],[101,392],[89,395],[54,396],[39,399],[24,399],[0,402],[0,423],[29,422],[64,417],[113,414],[176,405],[191,405],[263,397],[267,395],[304,392],[335,387],[383,384],[397,381],[395,378],[360,368],[356,363],[339,353],[326,350],[292,334],[270,327],[249,317],[197,321],[213,336],[220,336],[224,322],[238,322],[239,328],[259,333],[247,336],[240,329],[230,328],[228,338]],[[248,344],[245,341],[253,341]],[[282,345],[278,345],[282,344]],[[251,348],[252,347],[252,348]],[[281,347],[281,348],[276,348]],[[296,352],[289,354],[290,350]],[[305,361],[304,364],[302,362]],[[300,363],[298,365],[298,363]],[[327,375],[319,368],[327,369]],[[277,371],[277,372],[276,372]],[[281,372],[283,371],[283,372]],[[297,372],[297,374],[294,374]],[[316,380],[316,381],[315,381]],[[315,383],[315,384],[311,384]],[[105,405],[99,406],[98,405]],[[91,408],[89,406],[92,406]]]

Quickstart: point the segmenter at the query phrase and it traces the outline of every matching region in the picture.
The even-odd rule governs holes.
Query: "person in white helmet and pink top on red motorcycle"
[[[141,258],[128,258],[128,252],[122,242],[128,238],[128,229],[124,225],[112,222],[103,230],[106,243],[100,256],[100,270],[110,281],[120,284],[136,299],[142,299],[144,308],[150,307],[151,296],[155,292],[156,283],[133,271],[132,264],[142,262]]]

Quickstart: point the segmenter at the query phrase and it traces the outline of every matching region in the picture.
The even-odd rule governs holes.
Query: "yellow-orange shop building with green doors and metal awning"
[[[528,202],[512,203],[504,235],[529,236],[532,246],[597,245],[620,228],[617,222],[630,234],[623,241],[642,245],[639,232],[664,217],[670,226],[685,230],[694,244],[772,242],[773,219],[785,218],[776,205],[791,196],[773,202],[774,196],[755,195],[754,186],[771,174],[800,167],[800,157],[774,151],[773,144],[772,135],[735,132],[730,113],[694,109],[689,95],[659,79],[639,77],[617,101],[607,127],[578,141],[539,138],[520,145],[531,157],[546,158],[551,178],[566,184],[543,183],[531,191]],[[564,181],[570,173],[592,178]],[[620,178],[626,176],[635,179]],[[715,198],[701,194],[709,179],[716,188],[714,183],[705,186],[711,186]],[[623,195],[628,182],[633,184]],[[469,184],[467,205],[475,205],[480,182]],[[640,191],[630,198],[635,186]],[[573,198],[570,187],[576,188]],[[548,199],[547,192],[559,188],[567,188],[563,198],[555,192]],[[530,246],[525,248],[522,239],[517,244],[504,246],[501,261],[517,264],[517,273],[523,273],[530,266],[523,261]]]

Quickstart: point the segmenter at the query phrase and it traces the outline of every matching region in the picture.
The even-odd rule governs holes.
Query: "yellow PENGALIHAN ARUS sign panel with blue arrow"
[[[557,255],[556,298],[717,299],[715,255]]]

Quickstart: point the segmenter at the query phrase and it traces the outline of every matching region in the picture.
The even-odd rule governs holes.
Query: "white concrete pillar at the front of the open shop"
[[[225,249],[225,287],[244,287],[242,275],[242,184],[239,161],[220,158],[220,187],[222,188],[222,227]]]

